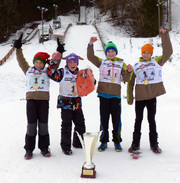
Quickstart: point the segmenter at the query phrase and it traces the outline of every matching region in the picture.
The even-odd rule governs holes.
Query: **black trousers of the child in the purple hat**
[[[85,133],[85,120],[82,109],[69,110],[61,109],[61,148],[63,150],[71,149],[71,130],[72,122],[74,123],[74,133],[73,133],[73,146],[76,148],[81,148],[82,145],[76,134],[76,131],[82,136]]]

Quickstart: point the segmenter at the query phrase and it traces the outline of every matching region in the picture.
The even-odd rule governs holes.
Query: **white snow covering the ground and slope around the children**
[[[91,9],[89,22],[93,19]],[[96,179],[80,178],[81,167],[85,162],[85,155],[82,149],[74,149],[72,156],[66,156],[60,149],[60,110],[56,109],[58,95],[58,84],[51,81],[50,88],[50,111],[49,111],[49,132],[52,157],[44,158],[38,148],[34,151],[32,160],[24,160],[24,137],[26,133],[26,100],[25,100],[25,76],[19,68],[15,52],[7,62],[0,67],[0,180],[3,183],[178,183],[180,182],[180,16],[179,1],[174,0],[172,4],[173,30],[170,32],[173,44],[172,62],[163,66],[163,80],[166,94],[157,98],[157,129],[159,133],[160,147],[162,154],[154,154],[150,151],[146,110],[142,124],[142,155],[139,160],[133,160],[127,152],[132,141],[134,126],[134,105],[127,105],[123,96],[126,96],[126,85],[122,84],[122,147],[123,151],[114,151],[111,141],[112,125],[110,124],[110,142],[105,152],[94,152],[93,162],[96,165]],[[102,20],[103,17],[101,17]],[[62,28],[56,30],[62,34],[69,23],[73,26],[69,29],[65,38],[65,49],[63,56],[74,52],[84,58],[80,61],[79,68],[90,67],[98,80],[98,69],[93,66],[86,57],[86,48],[91,36],[98,36],[95,28],[91,25],[76,25],[78,17],[74,15],[61,16]],[[107,43],[113,41],[117,44],[118,56],[125,60],[125,63],[134,64],[140,56],[140,48],[144,43],[153,43],[154,55],[161,55],[161,43],[159,36],[153,38],[131,38],[122,30],[112,27],[109,23],[102,21],[98,23],[103,40]],[[99,38],[98,38],[99,40]],[[10,44],[0,45],[0,58],[11,49]],[[46,51],[52,55],[56,49],[54,40],[38,43],[36,35],[31,44],[23,45],[23,53],[26,60],[32,65],[32,59],[36,52]],[[94,45],[95,54],[105,58],[100,41]],[[61,67],[65,61],[62,60]],[[88,132],[99,130],[99,101],[94,91],[83,98],[83,111],[86,119]],[[97,146],[99,142],[97,143]]]

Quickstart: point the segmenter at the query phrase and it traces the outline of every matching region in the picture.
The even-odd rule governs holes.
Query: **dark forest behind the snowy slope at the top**
[[[49,21],[57,15],[79,13],[81,5],[96,6],[102,14],[110,11],[110,21],[114,25],[127,26],[136,37],[155,36],[159,28],[158,10],[162,24],[166,2],[167,0],[0,0],[0,42],[6,41],[11,33],[25,23],[41,20],[42,7],[47,9],[44,19]]]

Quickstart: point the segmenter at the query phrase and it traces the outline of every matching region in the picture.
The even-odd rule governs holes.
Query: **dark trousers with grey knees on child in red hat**
[[[38,148],[47,149],[50,140],[48,132],[48,100],[27,100],[27,132],[25,136],[26,150],[33,151],[36,144],[36,135],[38,127]]]

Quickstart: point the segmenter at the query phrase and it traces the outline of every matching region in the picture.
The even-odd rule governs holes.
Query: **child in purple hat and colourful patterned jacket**
[[[57,107],[61,108],[61,148],[64,154],[71,155],[71,129],[74,122],[73,147],[82,148],[75,131],[81,136],[85,133],[85,120],[82,111],[81,97],[77,93],[76,77],[79,71],[79,56],[72,53],[66,56],[65,68],[57,69],[56,65],[48,67],[48,75],[59,82]],[[54,62],[52,60],[52,62]]]

